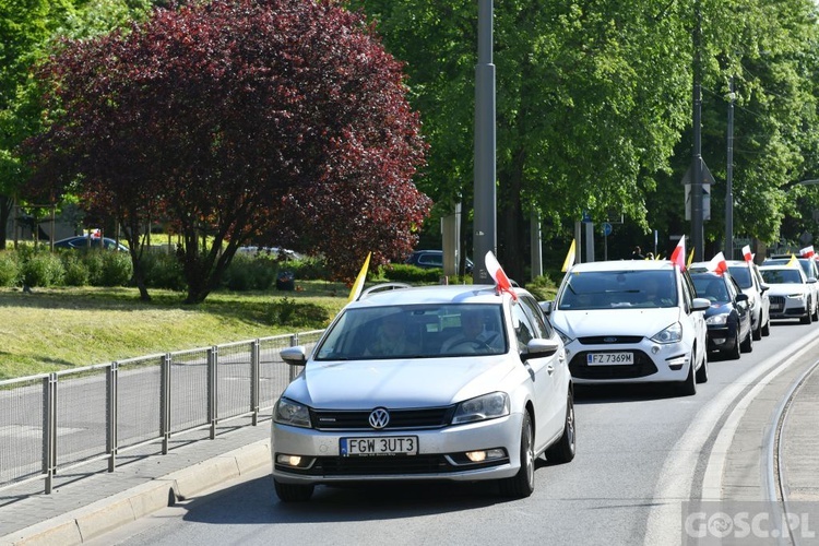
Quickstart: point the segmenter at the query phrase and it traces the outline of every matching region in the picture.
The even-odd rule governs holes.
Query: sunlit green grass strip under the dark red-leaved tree
[[[0,288],[0,379],[323,329],[349,295],[341,283],[298,288],[217,292],[199,306],[156,289],[143,302],[135,288]]]

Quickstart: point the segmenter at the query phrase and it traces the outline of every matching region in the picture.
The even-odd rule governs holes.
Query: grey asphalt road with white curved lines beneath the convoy
[[[682,534],[686,501],[765,497],[769,406],[819,357],[819,324],[771,330],[739,360],[711,359],[695,396],[581,390],[578,455],[542,462],[527,499],[499,497],[491,484],[380,484],[319,487],[310,502],[285,505],[261,468],[87,544],[693,544]]]

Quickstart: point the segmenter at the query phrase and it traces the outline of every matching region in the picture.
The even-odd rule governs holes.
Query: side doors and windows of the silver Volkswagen
[[[551,339],[554,330],[543,319],[543,313],[534,298],[521,295],[519,305],[512,305],[512,323],[518,340],[518,351],[525,351],[526,344],[534,337]],[[551,356],[530,358],[523,363],[534,382],[535,419],[537,430],[535,438],[538,447],[560,434],[566,422],[566,395],[569,368],[566,352],[558,351]]]

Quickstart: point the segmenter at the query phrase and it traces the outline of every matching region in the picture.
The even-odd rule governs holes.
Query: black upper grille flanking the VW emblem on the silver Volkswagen
[[[449,425],[455,406],[390,410],[390,423],[380,430],[442,428]],[[372,430],[369,423],[372,410],[313,410],[310,418],[318,430]]]

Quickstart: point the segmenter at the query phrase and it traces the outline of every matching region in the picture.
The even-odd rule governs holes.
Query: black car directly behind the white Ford
[[[691,281],[697,296],[711,301],[711,307],[705,311],[709,351],[733,359],[739,358],[740,352],[750,353],[753,349],[753,330],[748,295],[743,293],[729,271],[720,275],[698,271],[698,265],[705,264],[691,264]]]

